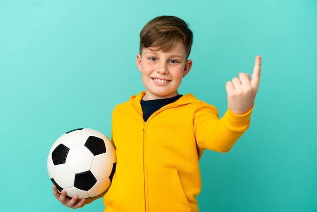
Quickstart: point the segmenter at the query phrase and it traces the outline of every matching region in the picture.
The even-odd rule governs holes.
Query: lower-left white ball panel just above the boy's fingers
[[[66,164],[60,164],[54,166],[53,178],[60,187],[70,188],[74,186],[75,173]]]

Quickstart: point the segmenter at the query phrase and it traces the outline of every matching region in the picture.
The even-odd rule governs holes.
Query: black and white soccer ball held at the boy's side
[[[64,133],[53,144],[47,167],[58,191],[78,198],[106,191],[115,171],[115,149],[101,132],[81,128]]]

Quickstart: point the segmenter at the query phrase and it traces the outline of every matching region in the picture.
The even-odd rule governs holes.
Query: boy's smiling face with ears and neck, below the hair
[[[177,96],[182,78],[192,65],[191,60],[186,60],[186,50],[181,41],[168,52],[143,48],[142,56],[137,54],[136,63],[146,89],[143,100]]]

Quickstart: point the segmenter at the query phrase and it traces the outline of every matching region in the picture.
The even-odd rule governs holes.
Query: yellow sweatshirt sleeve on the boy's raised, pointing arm
[[[230,151],[236,140],[249,128],[253,107],[243,115],[236,115],[228,108],[219,119],[215,107],[202,104],[194,115],[194,133],[198,148],[221,153]]]

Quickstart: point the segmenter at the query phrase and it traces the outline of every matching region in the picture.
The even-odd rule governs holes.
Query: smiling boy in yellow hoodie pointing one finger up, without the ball
[[[212,105],[178,93],[192,65],[191,44],[191,30],[177,17],[156,17],[141,30],[136,64],[145,92],[113,110],[117,165],[104,211],[199,211],[204,150],[228,152],[249,127],[261,57],[256,57],[252,80],[241,73],[227,82],[228,110],[219,119]],[[53,188],[55,197],[72,208],[98,198],[67,199],[65,191]]]

